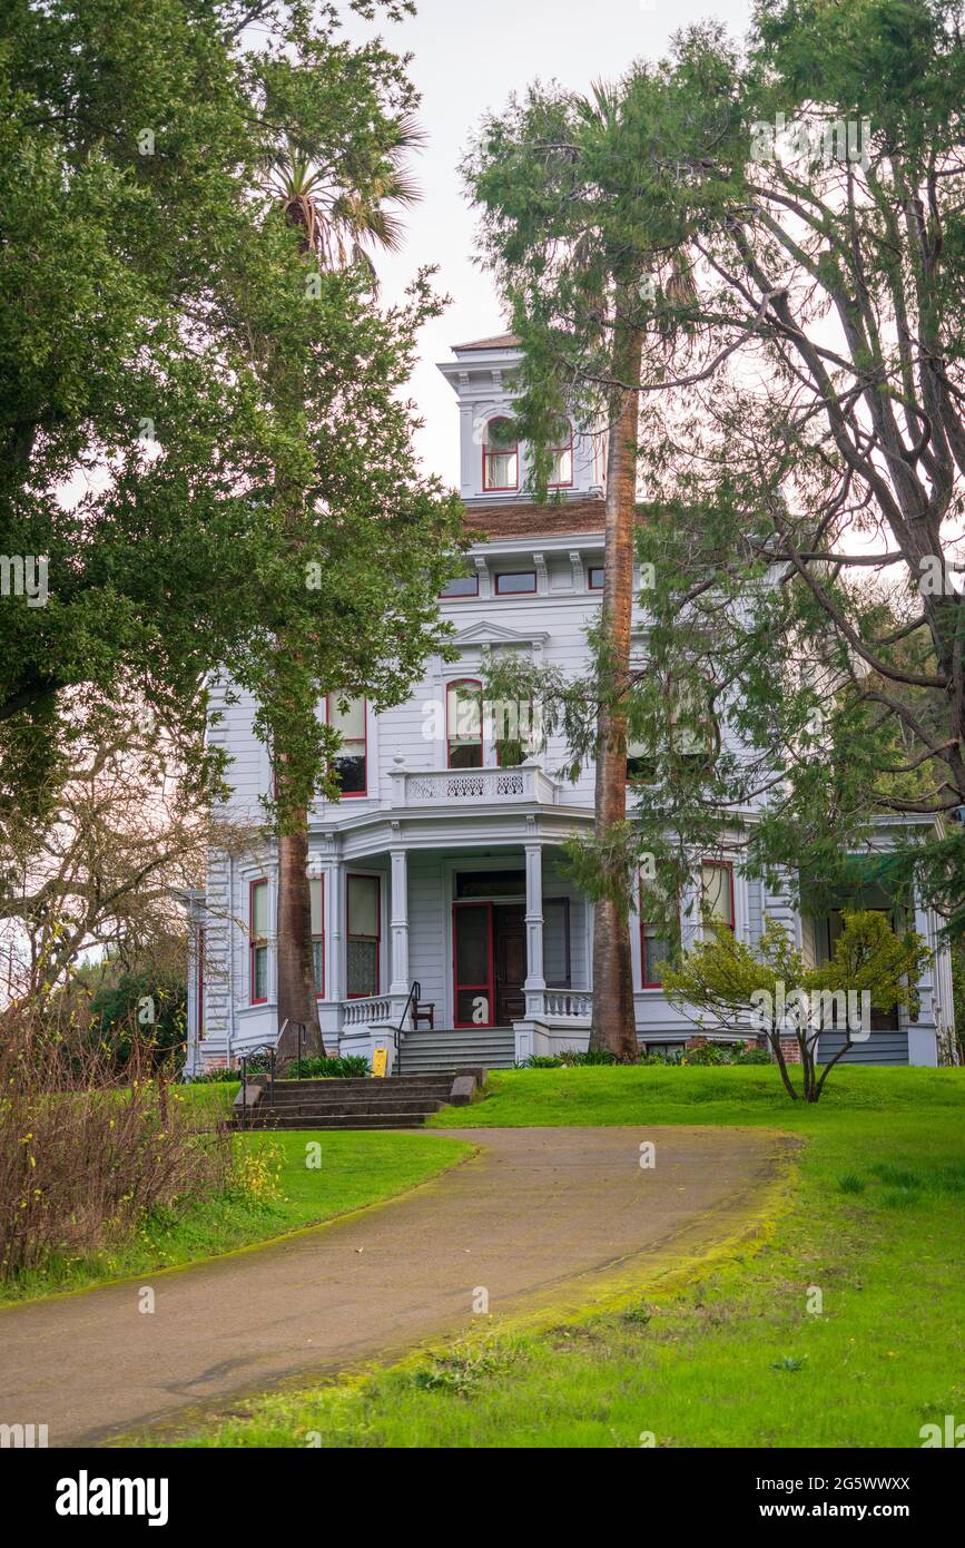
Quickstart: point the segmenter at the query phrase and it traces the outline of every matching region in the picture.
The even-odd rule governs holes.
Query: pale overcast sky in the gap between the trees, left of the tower
[[[387,299],[397,299],[424,263],[439,266],[438,288],[452,297],[442,317],[422,333],[411,392],[425,429],[419,450],[428,471],[459,481],[455,395],[435,368],[450,345],[503,330],[492,280],[472,262],[475,215],[465,203],[458,163],[489,108],[530,80],[557,79],[586,90],[597,77],[619,77],[634,59],[659,59],[677,28],[704,17],[742,34],[750,0],[416,0],[419,14],[379,23],[385,40],[411,53],[427,135],[413,170],[422,201],[407,214],[399,254],[377,257]],[[353,22],[351,36],[371,33]]]

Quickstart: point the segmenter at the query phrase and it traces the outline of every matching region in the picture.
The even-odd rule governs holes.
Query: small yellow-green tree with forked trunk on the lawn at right
[[[849,997],[868,995],[860,1002],[863,1009],[903,1005],[914,1014],[926,957],[920,935],[897,935],[885,915],[871,910],[844,915],[834,952],[820,968],[806,968],[803,954],[775,920],[766,921],[756,949],[716,924],[679,966],[663,966],[663,989],[701,1028],[705,1017],[721,1029],[745,1029],[750,1019],[767,1037],[792,1101],[803,1096],[817,1102],[838,1059],[855,1042]],[[818,1074],[818,1039],[835,1020],[844,1023],[844,1042]],[[787,1037],[798,1043],[800,1093],[787,1067]]]

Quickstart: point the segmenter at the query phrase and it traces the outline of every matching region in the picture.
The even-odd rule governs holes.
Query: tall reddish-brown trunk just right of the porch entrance
[[[614,347],[617,379],[639,379],[640,345],[642,334],[637,328],[617,330]],[[629,676],[639,412],[639,393],[625,393],[609,427],[603,551],[608,661],[597,718],[594,796],[597,844],[603,844],[614,824],[626,819],[626,715],[622,694]],[[602,898],[595,906],[592,985],[589,1046],[608,1050],[625,1062],[639,1059],[626,901]]]

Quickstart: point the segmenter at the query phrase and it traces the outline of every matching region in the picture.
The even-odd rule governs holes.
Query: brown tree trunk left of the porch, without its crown
[[[285,760],[278,759],[275,779],[285,779]],[[311,893],[308,885],[308,813],[285,819],[278,834],[278,1029],[289,1023],[289,1033],[278,1051],[297,1057],[297,1026],[305,1026],[302,1051],[306,1057],[325,1053],[315,998],[315,968],[311,943]]]

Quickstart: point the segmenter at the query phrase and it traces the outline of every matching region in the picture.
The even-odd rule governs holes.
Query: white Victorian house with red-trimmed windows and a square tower
[[[385,1046],[390,1067],[405,1071],[500,1067],[586,1046],[594,992],[592,906],[561,867],[564,841],[592,828],[592,769],[575,785],[561,782],[554,771],[566,749],[552,737],[521,763],[501,757],[507,732],[479,717],[470,695],[489,652],[580,669],[603,579],[600,438],[572,429],[555,450],[557,500],[534,506],[523,494],[527,449],[509,443],[500,424],[517,341],[482,339],[453,353],[439,370],[456,396],[461,497],[473,537],[469,573],[441,601],[458,659],[433,659],[408,703],[385,714],[365,700],[340,711],[332,697],[323,706],[343,735],[343,794],[309,814],[325,1043],[368,1054]],[[252,732],[252,704],[221,695],[218,709],[210,735],[232,759],[227,814],[258,822],[269,768]],[[888,824],[878,842],[888,847]],[[275,887],[269,844],[241,861],[210,854],[206,890],[190,899],[198,949],[189,1071],[275,1042]],[[682,899],[684,944],[701,929],[701,898],[752,943],[764,915],[784,921],[818,960],[840,927],[838,910],[801,915],[739,868],[696,854],[693,890]],[[894,909],[874,879],[860,902]],[[934,947],[933,913],[919,907],[911,923]],[[663,995],[656,968],[663,946],[639,915],[631,916],[631,946],[640,1042],[679,1045],[694,1028]],[[413,985],[414,1026],[411,1015],[404,1022]],[[950,958],[939,949],[922,980],[917,1020],[897,1011],[875,1017],[871,1037],[846,1057],[934,1065],[951,1019]],[[824,1053],[837,1036],[823,1036]]]

